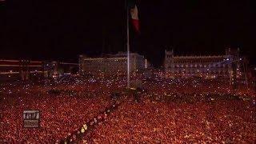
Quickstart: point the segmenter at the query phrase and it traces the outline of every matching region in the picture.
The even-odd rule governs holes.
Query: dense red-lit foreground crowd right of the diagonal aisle
[[[92,142],[250,143],[255,140],[254,112],[255,106],[242,100],[196,104],[130,100],[94,130]]]

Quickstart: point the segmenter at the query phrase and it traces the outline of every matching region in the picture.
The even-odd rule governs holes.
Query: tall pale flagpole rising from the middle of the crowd
[[[127,33],[127,88],[130,88],[130,42],[129,42],[129,6],[126,0],[126,33]]]

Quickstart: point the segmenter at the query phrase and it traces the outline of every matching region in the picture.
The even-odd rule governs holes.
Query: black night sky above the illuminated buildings
[[[253,2],[140,0],[141,34],[134,34],[131,27],[131,50],[159,66],[166,48],[174,47],[175,54],[199,55],[224,54],[226,46],[239,46],[242,54],[255,63]],[[97,56],[126,50],[122,0],[0,3],[1,58],[76,62],[78,54]]]

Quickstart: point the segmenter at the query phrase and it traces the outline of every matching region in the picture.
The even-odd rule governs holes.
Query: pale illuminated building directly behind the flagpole
[[[85,55],[79,57],[79,73],[81,75],[116,75],[126,74],[127,55],[119,52],[118,54],[106,54],[102,58],[88,58]],[[137,53],[130,54],[130,71],[139,72],[149,65],[144,56]]]

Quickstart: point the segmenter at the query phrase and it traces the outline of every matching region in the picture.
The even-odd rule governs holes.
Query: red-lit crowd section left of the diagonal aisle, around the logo
[[[86,83],[86,81],[85,81]],[[99,111],[110,105],[110,93],[100,83],[47,86],[16,84],[1,88],[0,140],[53,143],[66,138]],[[102,89],[98,89],[102,87]],[[60,93],[52,93],[52,91]],[[70,90],[73,90],[70,92]],[[76,93],[75,93],[76,92]],[[23,110],[39,110],[40,126],[23,127]],[[1,143],[1,142],[0,142]]]

